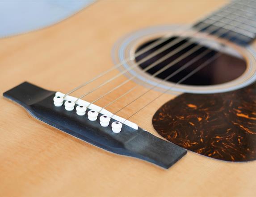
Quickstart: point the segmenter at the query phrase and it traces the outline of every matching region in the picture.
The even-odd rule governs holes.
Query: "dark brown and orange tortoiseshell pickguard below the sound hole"
[[[181,94],[153,116],[155,130],[180,147],[226,161],[256,159],[256,83],[219,94]]]

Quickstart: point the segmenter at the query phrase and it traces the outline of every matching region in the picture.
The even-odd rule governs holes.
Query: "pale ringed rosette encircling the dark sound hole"
[[[129,34],[128,37],[123,37],[122,40],[118,40],[118,43],[115,43],[115,47],[113,49],[113,57],[114,62],[122,62],[127,58],[133,58],[134,57],[134,48],[138,46],[138,43],[141,43],[141,41],[145,41],[145,37],[148,38],[155,38],[159,37],[159,35],[162,35],[163,33],[171,33],[171,35],[179,35],[179,32],[184,32],[185,29],[187,29],[187,25],[162,25],[157,27],[150,27],[146,29],[140,29],[137,32]],[[232,81],[216,84],[216,85],[207,85],[207,86],[195,86],[195,85],[186,85],[186,84],[176,84],[175,87],[172,87],[172,91],[168,91],[168,94],[176,94],[176,92],[186,92],[186,93],[197,93],[197,94],[212,94],[212,93],[221,93],[221,92],[228,92],[232,90],[237,90],[242,87],[248,86],[249,84],[256,81],[256,63],[255,63],[255,57],[256,57],[256,50],[253,49],[252,46],[248,46],[246,48],[243,48],[238,45],[233,45],[231,43],[225,42],[223,39],[215,39],[214,37],[208,37],[208,36],[202,36],[201,33],[196,33],[193,31],[186,31],[183,36],[185,37],[192,37],[192,39],[201,40],[201,43],[204,43],[206,46],[213,47],[213,49],[220,49],[224,53],[227,53],[229,55],[235,55],[241,60],[243,57],[245,57],[245,61],[247,62],[247,68],[243,72],[242,75],[240,75],[238,78],[235,78]],[[204,45],[203,44],[203,45]],[[225,47],[222,47],[225,45]],[[129,63],[125,63],[122,65],[122,69],[130,69],[134,65],[134,61],[129,61]],[[133,76],[136,76],[136,78],[140,80],[136,80],[137,83],[143,86],[154,86],[155,84],[158,84],[161,82],[161,85],[159,85],[158,89],[156,91],[163,91],[163,90],[169,90],[170,86],[174,86],[174,82],[169,82],[166,80],[163,82],[160,78],[148,78],[148,73],[141,72],[141,69],[138,67],[133,69],[133,74],[127,74],[126,77],[132,78]],[[134,80],[135,81],[135,80]]]

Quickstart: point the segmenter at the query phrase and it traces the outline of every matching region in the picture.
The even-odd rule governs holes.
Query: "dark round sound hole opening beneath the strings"
[[[154,51],[160,49],[161,47],[164,47],[165,45],[168,45],[169,43],[175,42],[176,39],[180,39],[179,37],[171,37],[164,43],[156,46],[155,48],[139,55],[135,58],[136,62],[139,62],[143,58],[147,57]],[[140,45],[138,49],[136,50],[136,53],[150,45],[152,42],[156,40],[148,41],[147,43],[144,43],[143,45]],[[189,43],[188,43],[189,42]],[[187,47],[184,49],[177,49],[178,47],[181,47],[182,45],[188,44]],[[139,64],[139,67],[141,69],[145,69],[148,66],[150,66],[152,63],[159,60],[161,57],[164,57],[167,54],[170,54],[173,50],[177,50],[178,53],[173,54],[171,57],[168,57],[163,62],[160,62],[156,66],[152,67],[151,69],[147,70],[146,72],[148,74],[155,74],[158,70],[162,69],[164,66],[168,65],[169,63],[176,60],[176,58],[182,56],[183,54],[187,53],[189,50],[192,50],[194,47],[198,44],[197,41],[189,41],[189,39],[182,39],[182,41],[176,42],[175,45],[171,46],[163,52],[155,55],[154,57],[148,59],[146,62],[142,62]],[[195,51],[194,53],[191,53],[190,55],[185,55],[186,57],[182,58],[181,61],[177,62],[170,68],[164,70],[162,73],[155,76],[156,78],[165,79],[168,78],[170,74],[175,72],[177,69],[179,69],[181,66],[185,65],[189,61],[192,61],[193,58],[197,57],[207,49],[210,49],[209,53],[206,53],[205,56],[198,59],[193,64],[189,65],[184,70],[180,71],[179,73],[175,74],[172,78],[169,78],[167,81],[177,83],[180,81],[181,78],[184,78],[187,74],[192,72],[194,69],[196,69],[198,66],[206,62],[208,59],[216,55],[217,53],[220,53],[220,56],[216,58],[214,61],[210,62],[207,66],[205,66],[203,69],[198,71],[196,74],[193,74],[191,77],[187,78],[185,81],[181,82],[180,84],[186,84],[186,85],[195,85],[195,86],[206,86],[206,85],[216,85],[221,84],[225,82],[229,82],[234,80],[235,78],[238,78],[243,74],[243,72],[246,70],[246,62],[243,58],[239,57],[238,55],[223,52],[223,51],[217,51],[214,48],[209,48],[206,45],[201,45],[200,49]]]

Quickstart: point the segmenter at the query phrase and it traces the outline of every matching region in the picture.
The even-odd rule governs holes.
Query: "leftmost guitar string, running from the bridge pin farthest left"
[[[228,5],[231,5],[231,4],[228,4]],[[223,8],[226,8],[228,5],[222,6],[222,9],[223,9]],[[214,13],[219,12],[220,10],[221,10],[221,9],[219,9],[218,11],[212,12],[211,14],[209,14],[209,15],[207,15],[207,16],[213,15]],[[189,27],[188,30],[189,30],[190,28],[191,28],[191,27]],[[184,30],[184,32],[185,32],[185,30]],[[110,68],[109,70],[104,71],[103,73],[97,75],[96,77],[92,78],[91,80],[89,80],[89,81],[87,81],[87,82],[81,84],[80,86],[77,86],[76,88],[70,90],[67,94],[64,95],[63,98],[66,98],[66,96],[67,96],[68,94],[71,94],[72,92],[74,92],[74,91],[80,89],[81,87],[84,87],[84,86],[88,85],[89,83],[91,83],[91,82],[97,80],[98,78],[101,78],[102,76],[104,76],[105,74],[109,73],[110,71],[112,71],[112,70],[114,70],[114,69],[116,69],[116,68],[122,66],[122,64],[124,64],[124,63],[126,63],[126,62],[129,62],[129,61],[131,61],[131,60],[134,60],[135,57],[138,57],[139,55],[145,53],[147,50],[153,49],[153,48],[155,48],[155,46],[160,45],[161,43],[164,43],[165,41],[167,41],[167,40],[170,38],[169,35],[172,35],[172,34],[164,35],[163,37],[160,38],[161,40],[159,40],[159,41],[157,40],[157,41],[151,43],[151,45],[147,46],[146,48],[144,48],[143,50],[139,51],[138,53],[135,53],[134,56],[124,59],[124,60],[123,60],[122,62],[120,62],[118,65],[113,66],[113,67]],[[166,37],[166,38],[165,38],[164,40],[162,40],[162,38],[164,38],[164,37]]]

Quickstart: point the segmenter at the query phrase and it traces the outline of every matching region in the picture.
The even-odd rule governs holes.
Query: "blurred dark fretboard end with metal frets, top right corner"
[[[232,1],[193,28],[239,45],[248,45],[256,38],[256,1]]]

